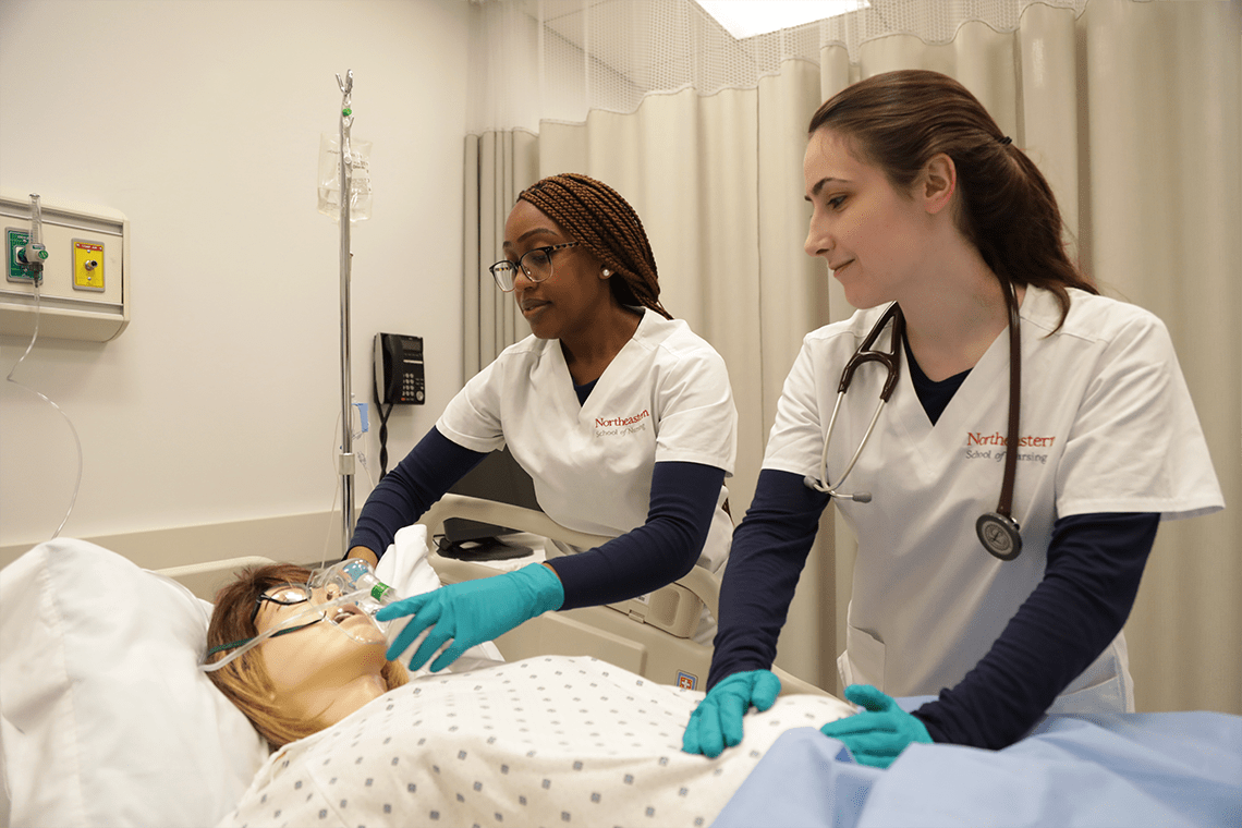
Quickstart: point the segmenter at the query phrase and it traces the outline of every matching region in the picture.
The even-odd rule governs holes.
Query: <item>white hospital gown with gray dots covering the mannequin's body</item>
[[[591,658],[417,678],[273,754],[220,824],[709,826],[781,732],[851,711],[782,696],[708,760],[681,751],[702,698]]]

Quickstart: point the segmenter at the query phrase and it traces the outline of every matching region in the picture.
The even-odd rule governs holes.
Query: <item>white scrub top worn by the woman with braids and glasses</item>
[[[617,538],[647,521],[656,463],[702,463],[733,475],[738,412],[720,355],[684,322],[643,312],[586,405],[560,341],[532,335],[474,375],[436,428],[476,452],[508,444],[548,516]],[[698,560],[713,572],[733,539],[727,495],[720,487]]]

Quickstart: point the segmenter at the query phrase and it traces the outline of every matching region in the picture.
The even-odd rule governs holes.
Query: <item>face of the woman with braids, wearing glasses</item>
[[[518,201],[504,223],[504,257],[517,262],[537,247],[576,241],[528,201]],[[532,333],[540,339],[590,336],[600,314],[614,302],[604,266],[585,247],[551,253],[553,274],[532,282],[519,273],[513,298]]]

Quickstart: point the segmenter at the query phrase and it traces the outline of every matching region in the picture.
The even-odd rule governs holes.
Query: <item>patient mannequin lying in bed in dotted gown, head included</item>
[[[287,564],[248,569],[216,597],[209,649],[281,633],[209,673],[277,749],[221,826],[348,828],[392,824],[400,813],[401,824],[573,816],[574,824],[692,828],[712,822],[782,731],[851,713],[831,696],[790,696],[748,716],[744,750],[689,755],[681,734],[700,693],[565,655],[479,658],[468,675],[411,677],[384,660],[385,638],[369,619],[343,614],[351,605],[322,617],[314,607],[328,593],[286,587],[310,575]]]

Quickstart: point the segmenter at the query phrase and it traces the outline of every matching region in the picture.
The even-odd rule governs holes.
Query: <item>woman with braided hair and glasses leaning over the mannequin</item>
[[[432,670],[550,610],[614,603],[696,565],[718,571],[733,523],[737,410],[724,360],[660,303],[656,261],[633,209],[585,175],[553,175],[518,196],[504,259],[491,267],[532,335],[448,403],[435,428],[368,498],[349,555],[375,564],[463,474],[508,446],[556,523],[614,540],[514,572],[400,601],[412,616],[389,648]],[[704,616],[696,638],[709,643]]]

